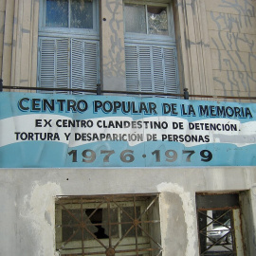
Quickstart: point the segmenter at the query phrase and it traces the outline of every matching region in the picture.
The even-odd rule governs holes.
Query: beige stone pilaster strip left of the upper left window
[[[38,10],[38,0],[15,0],[11,85],[36,85]]]

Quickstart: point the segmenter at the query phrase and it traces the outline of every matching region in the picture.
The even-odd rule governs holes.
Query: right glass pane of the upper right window
[[[168,35],[168,19],[166,7],[148,6],[149,33]]]

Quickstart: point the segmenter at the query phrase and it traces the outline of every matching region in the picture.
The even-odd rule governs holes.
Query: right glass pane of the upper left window
[[[71,1],[70,27],[93,28],[93,3],[88,0]]]

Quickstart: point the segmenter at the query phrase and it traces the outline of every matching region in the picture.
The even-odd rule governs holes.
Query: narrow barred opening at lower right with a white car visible
[[[243,255],[239,194],[198,194],[196,206],[200,255]]]

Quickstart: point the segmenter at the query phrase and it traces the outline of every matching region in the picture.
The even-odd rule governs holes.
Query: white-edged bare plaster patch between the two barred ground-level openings
[[[160,218],[163,256],[198,255],[196,244],[196,217],[192,195],[174,183],[157,186],[160,196]],[[172,245],[170,247],[169,245]]]

